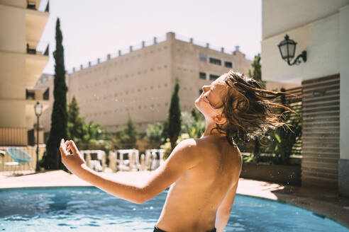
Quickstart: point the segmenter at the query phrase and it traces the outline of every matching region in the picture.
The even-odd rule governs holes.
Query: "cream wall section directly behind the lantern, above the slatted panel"
[[[307,52],[307,61],[289,66],[281,58],[279,42],[284,35],[297,42],[296,54]],[[301,83],[321,76],[339,74],[339,13],[262,40],[262,79]]]

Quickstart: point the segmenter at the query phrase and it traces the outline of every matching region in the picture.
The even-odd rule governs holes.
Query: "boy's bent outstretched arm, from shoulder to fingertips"
[[[141,204],[165,190],[187,169],[195,165],[195,159],[190,156],[191,149],[194,149],[194,140],[187,140],[178,144],[165,163],[155,170],[145,184],[140,186],[109,180],[88,168],[74,141],[64,142],[62,139],[60,153],[62,163],[82,180],[90,182],[111,195]],[[72,154],[67,151],[67,147],[72,151]]]

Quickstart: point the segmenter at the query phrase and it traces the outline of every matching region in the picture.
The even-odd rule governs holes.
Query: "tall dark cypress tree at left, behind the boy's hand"
[[[56,22],[56,50],[53,52],[55,58],[54,79],[54,103],[51,115],[51,129],[46,144],[46,153],[43,156],[43,167],[45,169],[64,169],[61,162],[59,145],[61,139],[67,139],[67,85],[65,84],[65,60],[62,45],[62,32],[60,30],[60,18]]]

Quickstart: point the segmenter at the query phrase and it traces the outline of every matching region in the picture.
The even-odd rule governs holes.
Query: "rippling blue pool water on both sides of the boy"
[[[153,231],[167,190],[143,204],[96,187],[0,190],[0,231]],[[311,211],[237,195],[224,231],[349,231]]]

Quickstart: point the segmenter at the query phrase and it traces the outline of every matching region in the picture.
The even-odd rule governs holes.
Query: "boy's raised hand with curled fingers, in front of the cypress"
[[[72,151],[70,154],[69,151]],[[77,174],[82,169],[82,164],[86,164],[81,153],[77,149],[74,141],[60,141],[60,155],[62,157],[62,163],[74,174]]]

